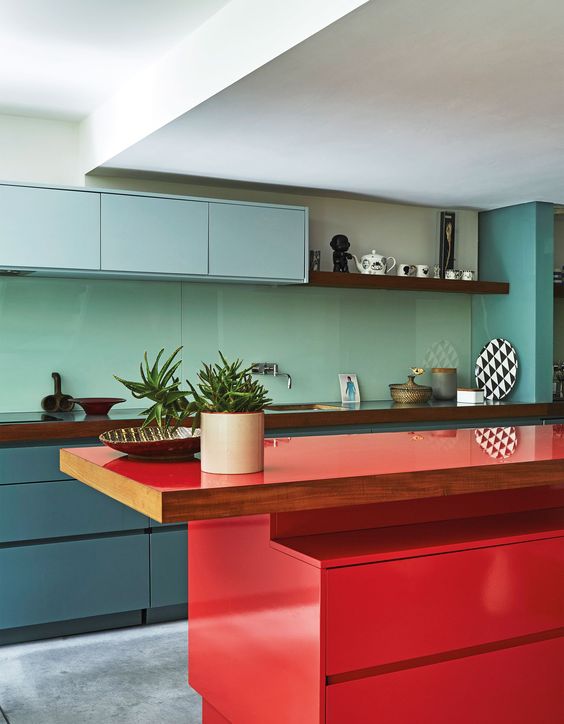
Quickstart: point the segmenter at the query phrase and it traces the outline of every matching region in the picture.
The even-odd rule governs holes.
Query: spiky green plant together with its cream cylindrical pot
[[[242,361],[204,364],[194,386],[187,380],[194,413],[200,426],[202,471],[255,473],[264,467],[264,408],[268,392],[251,376]]]

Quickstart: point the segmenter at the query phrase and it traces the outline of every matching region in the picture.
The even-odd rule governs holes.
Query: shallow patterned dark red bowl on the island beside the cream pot
[[[100,435],[100,440],[132,458],[152,460],[189,460],[200,452],[200,430],[177,427],[159,430],[158,427],[122,427]]]

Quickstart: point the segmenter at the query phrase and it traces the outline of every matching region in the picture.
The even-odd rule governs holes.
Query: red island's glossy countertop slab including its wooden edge
[[[105,447],[61,450],[61,470],[164,523],[561,486],[558,425],[518,428],[501,452],[474,430],[265,441],[264,471],[204,473],[198,460],[129,459]],[[486,444],[484,444],[486,443]]]

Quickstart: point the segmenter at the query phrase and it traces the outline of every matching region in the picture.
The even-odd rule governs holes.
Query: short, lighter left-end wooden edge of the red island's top
[[[78,455],[73,455],[69,450],[60,451],[59,461],[63,473],[133,508],[138,513],[162,522],[162,493],[159,490],[105,470]]]

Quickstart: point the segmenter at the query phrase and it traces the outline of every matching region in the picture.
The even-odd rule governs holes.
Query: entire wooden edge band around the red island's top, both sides
[[[161,523],[282,513],[564,483],[564,461],[339,477],[234,488],[157,491],[61,451],[61,470]]]

